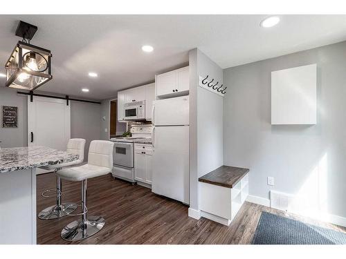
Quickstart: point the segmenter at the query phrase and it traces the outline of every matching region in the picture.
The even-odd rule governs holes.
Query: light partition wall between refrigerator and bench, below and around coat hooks
[[[223,98],[201,88],[199,75],[222,84],[223,70],[198,49],[190,51],[190,208],[199,209],[198,178],[223,164]]]

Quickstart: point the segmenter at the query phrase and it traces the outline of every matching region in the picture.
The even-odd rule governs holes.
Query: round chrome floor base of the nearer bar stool
[[[100,216],[89,216],[84,223],[82,220],[75,220],[62,229],[61,237],[68,241],[83,240],[98,233],[104,224],[104,218]]]

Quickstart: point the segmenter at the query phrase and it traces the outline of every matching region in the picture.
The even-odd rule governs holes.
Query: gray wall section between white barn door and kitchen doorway
[[[91,140],[100,140],[100,104],[71,101],[71,138],[86,140],[84,161],[88,160]]]

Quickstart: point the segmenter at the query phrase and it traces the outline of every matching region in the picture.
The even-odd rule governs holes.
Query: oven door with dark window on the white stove
[[[114,142],[113,164],[133,168],[134,144],[127,142]]]

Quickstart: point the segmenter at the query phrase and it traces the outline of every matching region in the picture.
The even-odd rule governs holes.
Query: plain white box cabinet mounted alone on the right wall
[[[316,64],[271,73],[271,124],[316,124]]]

